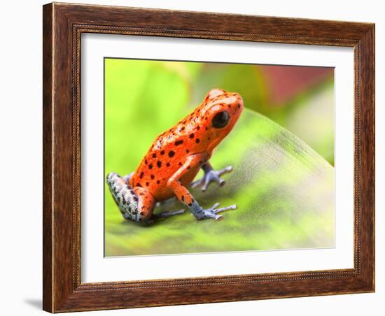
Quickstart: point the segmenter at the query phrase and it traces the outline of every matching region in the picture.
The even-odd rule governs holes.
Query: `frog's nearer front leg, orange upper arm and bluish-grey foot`
[[[204,220],[207,218],[214,218],[215,220],[221,220],[223,217],[218,215],[218,213],[223,212],[224,210],[235,210],[237,205],[233,204],[225,208],[218,208],[219,203],[215,203],[213,207],[204,209],[200,204],[195,201],[193,196],[188,192],[188,189],[184,187],[181,183],[181,178],[183,175],[188,173],[190,168],[194,168],[204,160],[204,154],[195,154],[191,155],[186,159],[186,162],[181,166],[181,168],[172,175],[171,178],[167,181],[167,186],[172,189],[175,196],[181,203],[190,210],[190,212],[195,216],[197,220]]]

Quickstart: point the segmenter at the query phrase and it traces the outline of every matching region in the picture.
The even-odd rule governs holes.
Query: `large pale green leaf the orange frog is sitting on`
[[[123,220],[106,188],[106,256],[334,246],[334,168],[289,131],[245,109],[211,163],[234,167],[226,184],[190,191],[204,208],[237,210],[222,221],[197,221],[187,210],[140,225]],[[180,208],[176,201],[155,213]]]

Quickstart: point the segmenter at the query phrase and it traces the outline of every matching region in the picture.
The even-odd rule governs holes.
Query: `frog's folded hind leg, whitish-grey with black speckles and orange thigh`
[[[118,173],[109,173],[106,179],[120,213],[126,220],[135,222],[150,219],[155,206],[153,195],[142,187],[130,187],[125,178]]]

